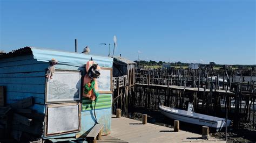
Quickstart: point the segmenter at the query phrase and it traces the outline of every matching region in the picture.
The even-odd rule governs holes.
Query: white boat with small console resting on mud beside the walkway
[[[214,116],[203,115],[195,113],[193,110],[193,104],[188,104],[187,111],[166,107],[159,105],[161,113],[171,119],[184,121],[186,123],[197,124],[202,126],[214,127],[216,131],[220,131],[221,128],[226,126],[226,119]],[[231,120],[227,120],[227,126],[229,126]]]

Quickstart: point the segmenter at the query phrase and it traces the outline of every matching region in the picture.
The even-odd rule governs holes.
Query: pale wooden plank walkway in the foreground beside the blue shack
[[[200,134],[185,131],[173,132],[173,128],[159,126],[129,118],[116,118],[112,115],[111,137],[128,142],[226,142],[210,137],[201,139]]]

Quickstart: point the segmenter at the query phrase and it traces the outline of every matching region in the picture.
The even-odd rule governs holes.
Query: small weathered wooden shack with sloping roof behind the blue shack
[[[128,86],[135,83],[136,62],[125,59],[121,56],[115,56],[113,61],[113,77],[127,76]]]

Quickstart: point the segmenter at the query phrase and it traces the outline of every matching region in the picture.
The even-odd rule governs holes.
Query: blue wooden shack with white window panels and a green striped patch
[[[45,73],[52,58],[58,64],[51,79]],[[96,105],[82,96],[85,64],[91,59],[102,68]],[[43,139],[86,135],[96,117],[104,125],[102,134],[110,134],[112,65],[109,57],[24,47],[0,55],[0,86],[6,89],[7,105],[32,97],[31,109],[44,115]]]

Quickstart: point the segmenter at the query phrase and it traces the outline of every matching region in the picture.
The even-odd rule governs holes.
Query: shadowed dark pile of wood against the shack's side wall
[[[30,109],[33,105],[33,98],[25,98],[4,106],[4,91],[1,91],[0,142],[11,141],[8,139],[15,139],[16,142],[42,142],[44,115]]]

